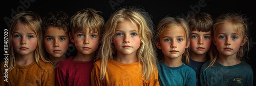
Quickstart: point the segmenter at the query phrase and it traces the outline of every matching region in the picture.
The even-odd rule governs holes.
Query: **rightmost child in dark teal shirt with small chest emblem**
[[[201,68],[200,84],[253,85],[252,69],[243,56],[246,43],[249,45],[246,18],[237,13],[222,14],[215,20],[212,34],[215,46]]]

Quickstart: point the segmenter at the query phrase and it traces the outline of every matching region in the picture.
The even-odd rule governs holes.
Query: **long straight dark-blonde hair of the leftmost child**
[[[49,62],[48,60],[45,59],[45,53],[43,51],[43,46],[42,46],[42,31],[41,31],[41,17],[32,12],[32,11],[24,11],[16,14],[12,22],[9,25],[9,37],[8,37],[8,53],[9,53],[9,62],[8,62],[8,71],[11,71],[12,69],[15,68],[15,54],[16,52],[13,50],[13,42],[12,42],[12,37],[13,37],[13,31],[17,28],[18,24],[23,24],[24,26],[27,26],[27,30],[31,30],[35,33],[36,38],[37,38],[37,45],[34,53],[34,59],[39,67],[42,68],[42,66],[39,63],[39,60],[41,59],[42,61]],[[44,69],[44,68],[42,68]]]

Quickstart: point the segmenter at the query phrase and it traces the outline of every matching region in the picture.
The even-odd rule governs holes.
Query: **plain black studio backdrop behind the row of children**
[[[177,0],[177,1],[163,1],[163,0],[149,0],[149,1],[139,1],[139,0],[73,0],[73,1],[52,1],[52,0],[11,0],[1,3],[1,33],[2,38],[5,34],[5,29],[8,29],[8,24],[10,19],[17,13],[30,10],[38,13],[41,17],[44,17],[50,11],[65,11],[70,16],[75,14],[77,11],[84,8],[93,8],[95,10],[100,10],[102,16],[106,20],[109,19],[111,13],[113,13],[117,8],[121,6],[139,5],[145,8],[153,16],[153,22],[155,26],[159,23],[163,16],[168,14],[186,16],[187,13],[198,13],[207,12],[211,14],[214,18],[222,13],[226,12],[237,12],[245,14],[249,21],[250,26],[250,36],[248,41],[249,45],[249,61],[248,64],[252,67],[255,76],[255,63],[256,62],[256,1],[238,1],[238,0]],[[5,40],[5,39],[4,39]],[[2,44],[2,52],[4,52],[4,45]],[[72,55],[74,53],[74,47],[70,48],[67,55]],[[5,52],[4,52],[5,54]],[[4,55],[5,56],[5,55]],[[4,56],[0,60],[4,59]],[[239,70],[238,70],[239,71]],[[255,82],[255,77],[254,77]],[[255,84],[255,83],[254,83]]]

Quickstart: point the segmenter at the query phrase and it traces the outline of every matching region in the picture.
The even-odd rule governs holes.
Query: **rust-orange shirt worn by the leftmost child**
[[[28,66],[19,66],[16,63],[16,67],[6,74],[5,61],[2,61],[0,85],[55,85],[55,68],[53,65],[41,60],[39,62],[45,69],[40,68],[36,62],[32,62]]]

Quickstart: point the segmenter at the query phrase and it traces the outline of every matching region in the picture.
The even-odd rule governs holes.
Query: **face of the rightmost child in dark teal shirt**
[[[245,44],[243,35],[238,33],[230,23],[218,26],[216,29],[216,32],[214,32],[214,45],[217,47],[219,54],[236,56],[240,46]]]

